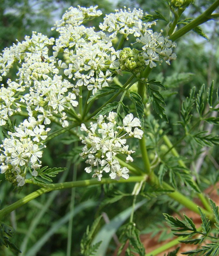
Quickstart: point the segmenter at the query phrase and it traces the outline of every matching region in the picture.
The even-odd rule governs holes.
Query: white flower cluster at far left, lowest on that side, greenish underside
[[[5,177],[17,186],[25,184],[26,168],[32,169],[32,175],[37,176],[36,169],[41,166],[43,145],[40,140],[47,138],[50,128],[38,124],[34,117],[25,119],[15,132],[8,132],[8,138],[3,140],[0,151],[0,170]]]

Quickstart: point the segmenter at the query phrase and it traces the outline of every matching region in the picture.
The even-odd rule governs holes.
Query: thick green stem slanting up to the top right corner
[[[184,36],[186,33],[191,31],[192,29],[196,28],[200,24],[213,19],[214,17],[211,17],[212,12],[215,11],[215,9],[219,6],[219,0],[216,0],[214,4],[212,4],[205,12],[203,12],[199,17],[194,19],[189,24],[185,25],[183,28],[179,29],[177,32],[175,32],[173,35],[170,36],[170,40],[175,41],[181,36]]]

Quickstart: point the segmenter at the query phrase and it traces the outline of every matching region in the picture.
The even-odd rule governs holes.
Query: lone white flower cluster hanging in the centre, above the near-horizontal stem
[[[81,124],[80,130],[87,132],[87,137],[84,140],[80,138],[85,144],[80,156],[88,156],[86,163],[90,166],[86,167],[85,171],[90,173],[93,170],[93,178],[97,177],[100,181],[103,172],[110,172],[111,179],[126,180],[129,177],[129,170],[120,166],[116,156],[123,154],[126,155],[126,163],[133,161],[131,154],[135,151],[129,150],[129,146],[125,144],[127,138],[142,138],[143,131],[137,128],[141,126],[140,120],[128,114],[123,119],[123,126],[117,126],[117,113],[109,112],[109,116],[106,117],[108,123],[105,123],[105,117],[100,115],[97,123],[90,123],[89,129],[85,124]]]

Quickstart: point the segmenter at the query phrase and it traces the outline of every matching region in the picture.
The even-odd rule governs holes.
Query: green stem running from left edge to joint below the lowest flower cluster
[[[70,181],[70,182],[63,182],[63,183],[55,183],[46,185],[45,188],[40,188],[33,193],[19,199],[15,203],[6,206],[2,210],[0,210],[0,220],[9,214],[10,212],[14,211],[15,209],[19,208],[20,206],[28,203],[29,201],[33,200],[34,198],[41,196],[42,194],[48,193],[53,190],[59,189],[66,189],[66,188],[76,188],[76,187],[87,187],[91,185],[100,185],[100,184],[110,184],[110,183],[130,183],[130,182],[140,182],[145,180],[145,176],[132,176],[128,180],[112,180],[109,178],[104,178],[101,181],[98,180],[79,180],[79,181]]]

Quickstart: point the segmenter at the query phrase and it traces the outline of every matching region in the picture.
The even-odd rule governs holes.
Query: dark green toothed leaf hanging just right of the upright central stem
[[[152,108],[155,110],[155,112],[168,123],[169,122],[168,118],[167,118],[166,114],[164,113],[165,109],[162,107],[162,105],[166,106],[163,96],[160,94],[159,91],[152,89],[148,85],[145,85],[145,86],[146,86],[147,93],[149,96],[147,103],[152,102]]]

